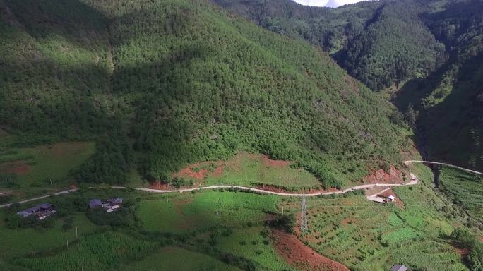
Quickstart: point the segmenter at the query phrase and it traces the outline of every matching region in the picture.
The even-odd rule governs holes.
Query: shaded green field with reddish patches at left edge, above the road
[[[94,147],[90,142],[70,142],[4,150],[0,171],[17,175],[10,185],[16,190],[66,186],[70,172],[93,155]]]

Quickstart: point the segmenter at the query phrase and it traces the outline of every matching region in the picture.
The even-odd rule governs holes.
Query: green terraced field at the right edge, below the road
[[[483,178],[460,169],[442,167],[439,176],[441,190],[467,210],[472,217],[483,222]]]

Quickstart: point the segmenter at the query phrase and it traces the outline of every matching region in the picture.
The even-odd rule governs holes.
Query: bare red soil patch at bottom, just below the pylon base
[[[349,271],[347,267],[334,260],[316,253],[313,249],[305,246],[294,234],[285,231],[274,230],[273,241],[275,248],[287,263],[298,267],[303,271]]]

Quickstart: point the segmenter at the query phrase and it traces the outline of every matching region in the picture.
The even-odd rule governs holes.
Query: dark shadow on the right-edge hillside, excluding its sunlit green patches
[[[470,153],[474,152],[473,139],[470,129],[483,134],[483,102],[477,98],[482,94],[481,79],[477,73],[482,72],[483,54],[473,57],[460,65],[456,74],[451,92],[444,97],[443,101],[427,109],[420,107],[420,102],[432,93],[437,84],[443,80],[446,71],[451,69],[453,62],[439,68],[427,78],[427,80],[415,79],[408,82],[398,92],[395,104],[403,112],[410,102],[419,110],[417,126],[419,137],[426,134],[424,142],[427,149],[422,150],[423,139],[416,138],[419,149],[427,152],[429,157],[437,161],[449,162],[461,167],[483,169],[483,161],[477,162],[475,167],[468,164]],[[482,150],[476,150],[482,155]]]

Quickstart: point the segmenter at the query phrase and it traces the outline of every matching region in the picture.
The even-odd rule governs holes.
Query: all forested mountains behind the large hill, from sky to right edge
[[[483,169],[482,1],[385,0],[340,8],[290,0],[213,0],[269,30],[328,52],[372,90],[412,104],[428,159]],[[411,115],[411,114],[410,114]]]

